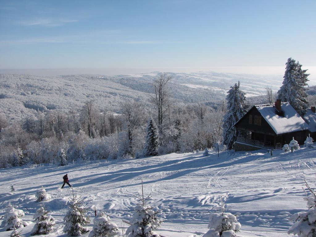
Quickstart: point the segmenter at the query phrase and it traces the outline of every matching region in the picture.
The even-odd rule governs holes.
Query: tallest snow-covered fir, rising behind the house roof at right
[[[282,102],[289,102],[291,106],[301,116],[306,113],[308,102],[307,93],[307,70],[301,69],[302,65],[294,59],[289,58],[286,63],[285,73],[283,76],[283,85],[277,92],[278,98]]]

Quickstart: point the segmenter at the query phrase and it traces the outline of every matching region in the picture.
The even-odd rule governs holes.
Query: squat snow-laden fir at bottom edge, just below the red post
[[[118,226],[111,222],[109,216],[103,212],[93,219],[93,229],[89,236],[91,237],[110,237],[119,234]]]

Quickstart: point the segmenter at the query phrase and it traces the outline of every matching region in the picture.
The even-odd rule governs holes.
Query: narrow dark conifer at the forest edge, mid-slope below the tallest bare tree
[[[158,129],[154,119],[150,118],[146,129],[146,144],[144,147],[144,156],[158,155]]]

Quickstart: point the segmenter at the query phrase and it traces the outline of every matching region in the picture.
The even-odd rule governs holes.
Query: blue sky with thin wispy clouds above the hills
[[[0,72],[284,74],[316,81],[316,1],[0,1]],[[122,73],[119,73],[122,72]]]

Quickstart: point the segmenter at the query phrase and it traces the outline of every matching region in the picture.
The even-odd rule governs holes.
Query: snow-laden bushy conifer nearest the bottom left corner
[[[21,228],[27,226],[28,223],[21,220],[24,216],[24,212],[19,209],[15,209],[13,205],[9,204],[3,217],[2,226],[5,230],[12,230],[14,228]]]

